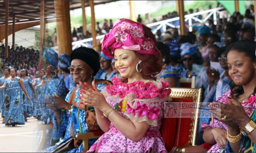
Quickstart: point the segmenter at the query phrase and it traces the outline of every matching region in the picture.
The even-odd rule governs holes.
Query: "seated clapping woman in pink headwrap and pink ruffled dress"
[[[153,33],[134,21],[117,20],[105,35],[102,51],[115,58],[115,68],[124,79],[114,77],[103,94],[94,82],[80,84],[82,104],[95,108],[105,132],[88,152],[166,152],[159,129],[171,90],[154,77],[161,66]]]

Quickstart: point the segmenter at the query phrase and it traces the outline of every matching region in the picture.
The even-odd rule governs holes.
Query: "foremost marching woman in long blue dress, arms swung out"
[[[26,89],[23,85],[22,79],[16,76],[17,70],[11,69],[10,75],[11,80],[6,81],[1,88],[5,89],[5,125],[6,126],[16,126],[24,125],[25,119],[23,115],[23,99],[22,91],[25,93],[28,101],[30,97],[26,92]]]

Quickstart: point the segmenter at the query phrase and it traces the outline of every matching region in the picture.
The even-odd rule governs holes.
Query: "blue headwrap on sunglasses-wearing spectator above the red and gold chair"
[[[184,57],[186,54],[190,54],[190,55],[196,55],[198,57],[200,57],[200,52],[198,50],[198,48],[190,43],[184,43],[180,46],[180,50],[181,50],[181,57]]]

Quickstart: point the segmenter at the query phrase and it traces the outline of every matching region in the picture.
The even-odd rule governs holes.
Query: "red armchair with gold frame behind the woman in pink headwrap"
[[[196,106],[201,102],[202,89],[171,88],[172,102],[191,102]],[[164,118],[160,129],[168,152],[191,151],[189,146],[197,145],[199,109],[192,108],[196,114],[193,118]]]

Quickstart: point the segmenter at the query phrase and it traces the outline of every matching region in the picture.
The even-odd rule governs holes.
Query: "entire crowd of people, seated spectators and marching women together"
[[[3,123],[23,125],[31,116],[52,123],[55,143],[43,152],[58,151],[71,140],[74,146],[65,152],[82,152],[76,135],[100,129],[105,134],[89,140],[88,152],[166,152],[159,128],[168,87],[180,87],[180,78],[195,76],[203,103],[222,103],[211,110],[221,112],[221,118],[200,118],[198,145],[208,152],[255,152],[256,130],[246,129],[256,128],[252,15],[249,9],[245,15],[234,12],[217,25],[209,19],[209,26],[193,27],[182,36],[176,28],[154,35],[139,21],[119,19],[113,25],[105,20],[98,27],[106,34],[101,54],[79,47],[46,70],[36,67],[38,51],[20,46],[4,58],[2,45]],[[81,30],[74,30],[73,37]]]

